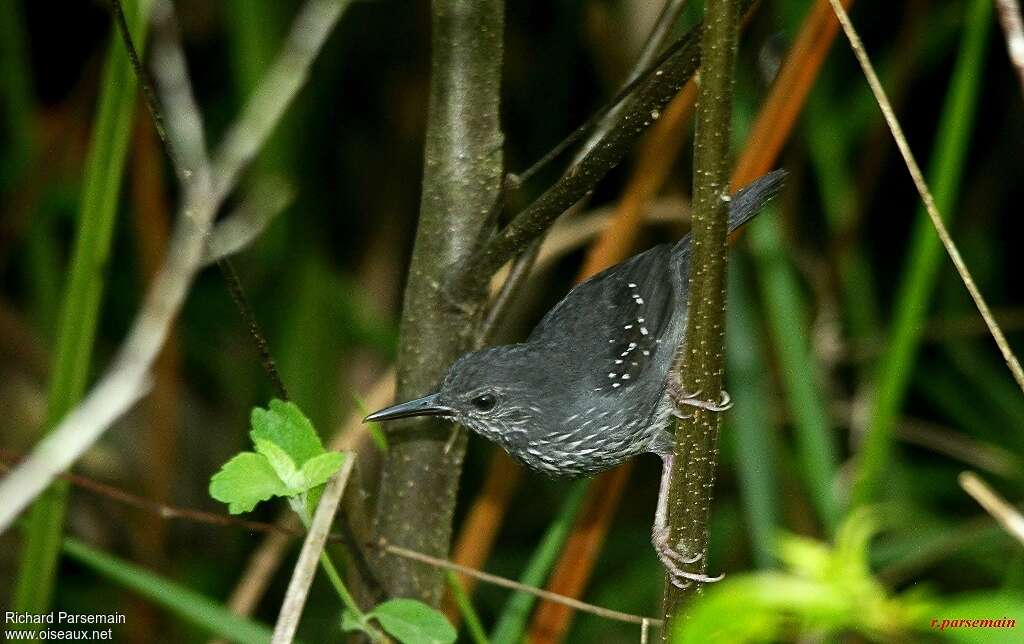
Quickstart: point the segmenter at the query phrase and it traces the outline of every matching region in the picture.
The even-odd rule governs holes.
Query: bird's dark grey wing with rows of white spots
[[[571,377],[588,380],[592,390],[635,391],[638,381],[660,388],[662,378],[641,375],[668,373],[681,339],[686,255],[674,257],[663,244],[594,275],[548,311],[529,341],[571,352],[588,367]]]

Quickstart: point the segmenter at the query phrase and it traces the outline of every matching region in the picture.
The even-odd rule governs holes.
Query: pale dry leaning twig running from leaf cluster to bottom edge
[[[348,477],[352,473],[354,464],[355,457],[348,455],[344,465],[341,466],[341,471],[335,474],[324,488],[324,493],[316,505],[316,512],[313,513],[313,520],[309,524],[309,531],[302,543],[299,560],[292,570],[292,579],[288,583],[285,601],[281,604],[278,624],[273,627],[271,644],[291,644],[295,637],[295,631],[299,628],[299,619],[302,617],[302,608],[309,595],[309,587],[316,573],[316,564],[319,563],[324,553],[324,546],[331,532],[334,515],[338,512],[338,504],[341,503],[341,497],[345,493],[345,485],[348,483]]]

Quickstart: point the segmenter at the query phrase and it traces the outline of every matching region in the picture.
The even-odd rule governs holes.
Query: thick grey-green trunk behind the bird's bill
[[[397,399],[429,393],[470,348],[484,294],[455,307],[440,285],[490,232],[502,177],[499,121],[502,0],[434,0],[430,104],[423,194],[406,287]],[[389,428],[390,429],[390,428]],[[447,422],[420,419],[389,431],[375,531],[389,543],[446,556],[465,434],[446,454]],[[393,596],[440,601],[443,577],[429,566],[382,555],[381,582]]]

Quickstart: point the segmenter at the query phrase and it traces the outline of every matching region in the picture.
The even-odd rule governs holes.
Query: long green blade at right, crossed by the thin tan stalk
[[[929,183],[935,205],[949,219],[959,195],[978,102],[985,45],[991,22],[988,0],[973,0],[961,42],[956,67],[929,168]],[[909,261],[897,292],[888,349],[882,355],[876,380],[870,421],[864,435],[854,474],[853,503],[878,500],[886,471],[891,467],[894,426],[903,404],[921,344],[928,302],[943,260],[942,247],[924,209],[919,209],[911,239]]]

